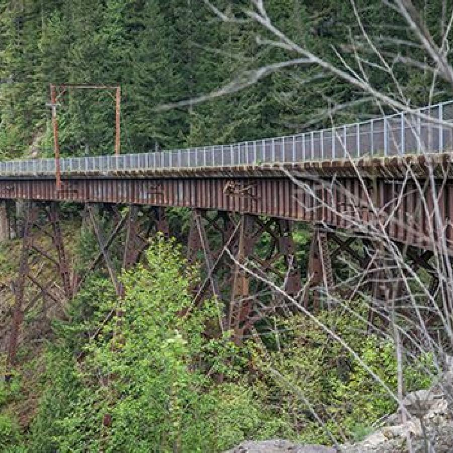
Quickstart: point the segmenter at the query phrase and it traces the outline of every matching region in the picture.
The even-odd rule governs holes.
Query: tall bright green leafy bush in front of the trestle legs
[[[218,308],[207,303],[182,316],[193,278],[180,249],[157,239],[146,266],[124,275],[123,317],[86,347],[83,365],[63,347],[49,352],[34,451],[222,451],[247,437],[276,435],[281,423],[258,388],[233,382],[246,363],[242,351],[226,335],[204,335]],[[94,287],[91,293],[99,296]],[[87,293],[81,297],[88,301]],[[78,329],[70,325],[69,332]],[[111,426],[102,425],[105,414]]]

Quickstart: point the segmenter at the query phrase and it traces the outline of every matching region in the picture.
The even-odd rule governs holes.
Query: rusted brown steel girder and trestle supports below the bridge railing
[[[167,169],[155,171],[152,176],[131,172],[122,177],[93,175],[69,179],[63,175],[64,190],[55,187],[52,178],[10,178],[0,180],[0,199],[51,202],[48,212],[57,255],[51,256],[36,245],[34,249],[57,265],[67,295],[77,291],[83,277],[77,284],[70,278],[59,231],[59,201],[87,204],[88,217],[100,246],[99,254],[88,269],[104,262],[118,295],[122,295],[122,289],[117,276],[119,270],[114,269],[110,257],[112,243],[124,237],[121,258],[123,267],[128,268],[139,260],[152,232],[170,235],[166,208],[192,209],[189,260],[191,263],[199,260],[203,264],[200,266],[203,268],[201,283],[193,288],[194,306],[209,295],[223,303],[225,312],[221,327],[231,330],[234,340],[240,342],[254,324],[269,313],[290,310],[277,294],[269,290],[263,292],[260,277],[273,275],[288,294],[301,295],[302,279],[292,239],[294,222],[315,226],[308,263],[311,288],[335,285],[331,259],[341,252],[354,259],[359,268],[367,269],[368,280],[378,282],[374,283],[371,292],[376,299],[385,299],[387,288],[379,285],[383,279],[380,265],[372,263],[373,246],[366,246],[366,241],[371,243],[373,236],[387,235],[392,241],[411,246],[408,259],[412,260],[414,268],[425,269],[432,280],[432,293],[437,291],[439,283],[429,263],[430,250],[442,237],[446,249],[453,255],[450,221],[453,216],[453,173],[450,175],[448,156],[439,155],[431,162],[430,170],[438,177],[431,180],[426,179],[429,173],[426,156],[404,156],[374,159],[374,167],[369,161],[357,162],[355,167],[349,161],[330,161],[285,168],[265,165],[187,171]],[[408,168],[413,174],[406,180],[403,177]],[[104,237],[95,205],[106,203],[110,206],[106,211],[114,224],[111,233]],[[129,205],[127,215],[117,205]],[[143,224],[145,218],[146,226]],[[354,238],[336,236],[336,230],[352,231]],[[368,251],[362,252],[353,246],[352,242],[358,237],[356,233]],[[270,240],[263,255],[262,250],[261,254],[255,250],[255,245],[264,234]],[[331,240],[330,247],[328,240]],[[24,239],[25,250],[32,245],[27,245]],[[414,251],[417,249],[420,253]],[[253,266],[254,278],[245,272],[246,264]],[[22,270],[20,275],[24,272]],[[24,278],[39,286],[33,276],[25,275]],[[369,289],[368,280],[363,285]],[[21,282],[20,278],[18,282]],[[45,285],[40,285],[40,291],[51,297]],[[354,297],[354,294],[348,297]],[[14,322],[18,325],[21,314],[23,316],[22,299],[20,291],[17,292]],[[307,298],[305,302],[307,306]],[[17,333],[15,335],[17,343]],[[14,334],[11,338],[13,344]],[[15,353],[13,349],[11,351]]]

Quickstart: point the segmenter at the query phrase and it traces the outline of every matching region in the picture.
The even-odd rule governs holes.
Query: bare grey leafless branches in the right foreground
[[[218,16],[221,21],[239,21],[241,19],[234,17],[229,11],[221,11],[215,4],[204,0],[204,3]],[[258,24],[262,30],[262,36],[258,36],[257,40],[262,46],[280,48],[287,51],[291,58],[260,67],[256,70],[247,71],[238,74],[238,77],[220,87],[217,91],[202,95],[197,99],[190,100],[191,104],[203,102],[207,99],[223,96],[224,94],[241,90],[251,84],[257,83],[260,79],[267,77],[276,71],[280,71],[288,67],[314,66],[326,73],[332,74],[334,77],[341,79],[347,84],[350,84],[355,89],[362,92],[365,99],[372,99],[378,106],[379,110],[384,114],[389,110],[407,112],[405,121],[406,126],[411,130],[419,145],[421,153],[426,153],[429,149],[425,148],[425,143],[420,136],[420,129],[416,127],[417,121],[425,121],[432,123],[432,118],[429,114],[420,113],[420,111],[411,105],[411,100],[405,93],[404,88],[398,81],[395,74],[395,64],[403,64],[408,67],[415,68],[431,74],[431,85],[429,90],[429,100],[435,94],[435,87],[439,79],[450,84],[453,88],[453,67],[449,63],[449,35],[453,26],[453,12],[448,13],[446,2],[442,3],[442,11],[440,12],[440,38],[438,42],[434,39],[428,27],[425,25],[422,15],[414,6],[411,0],[383,0],[383,8],[389,8],[397,12],[412,37],[407,41],[398,41],[407,47],[421,49],[425,55],[423,59],[410,58],[402,56],[396,52],[388,50],[388,47],[383,48],[381,44],[394,42],[396,39],[392,36],[380,36],[379,39],[371,37],[363,23],[361,11],[358,8],[355,0],[350,0],[351,9],[356,21],[360,36],[351,37],[348,45],[334,49],[337,56],[337,64],[323,59],[322,56],[313,53],[313,51],[296,43],[290,39],[285,33],[285,30],[278,29],[272,22],[266,11],[266,5],[263,0],[252,0],[251,6],[244,10],[245,15],[252,19],[255,24]],[[450,14],[447,17],[447,14]],[[269,34],[273,37],[269,38]],[[347,62],[343,51],[349,52],[352,55],[355,63],[354,67]],[[379,70],[384,72],[392,81],[394,92],[384,93],[380,89],[374,87],[370,82],[369,70]],[[174,104],[161,106],[160,108],[170,108],[187,104],[188,101],[180,101]],[[335,111],[342,110],[348,105],[334,105],[326,108],[324,115],[330,118],[332,125],[334,124]],[[410,118],[408,120],[408,118]],[[310,124],[308,124],[310,125]],[[305,126],[308,126],[307,124]],[[448,122],[437,122],[435,127],[451,127]],[[342,137],[338,136],[341,142]],[[450,151],[450,149],[448,149]],[[329,337],[334,341],[339,342],[351,356],[359,360],[362,366],[373,376],[376,382],[391,395],[398,403],[403,421],[410,418],[411,415],[406,411],[403,404],[405,383],[403,379],[403,370],[407,357],[417,355],[423,352],[430,352],[434,357],[436,372],[440,374],[444,366],[444,360],[447,352],[451,351],[453,346],[453,330],[452,330],[452,304],[453,304],[453,268],[451,265],[451,242],[447,235],[447,230],[452,228],[450,220],[445,220],[442,214],[438,201],[442,196],[442,191],[449,181],[449,168],[443,169],[443,174],[439,175],[435,164],[426,165],[425,175],[423,178],[414,172],[413,166],[407,164],[404,168],[403,178],[399,181],[399,188],[395,190],[393,198],[388,202],[388,205],[383,206],[376,202],[375,196],[370,189],[366,178],[363,177],[357,163],[350,155],[348,148],[345,146],[344,156],[349,160],[350,165],[355,169],[356,178],[361,182],[362,195],[357,197],[354,193],[348,191],[335,176],[329,181],[322,178],[316,178],[313,174],[305,174],[303,172],[288,171],[282,167],[282,172],[290,178],[294,184],[299,187],[300,193],[305,193],[310,199],[316,200],[315,205],[310,204],[303,206],[305,210],[322,209],[326,212],[326,218],[329,215],[341,218],[344,225],[348,225],[346,229],[335,229],[336,235],[344,235],[350,238],[351,235],[360,238],[367,244],[371,244],[369,248],[369,259],[365,268],[355,267],[351,262],[344,260],[343,265],[348,269],[348,278],[339,281],[332,287],[321,285],[317,288],[322,292],[322,297],[328,306],[342,307],[346,312],[351,312],[350,301],[353,298],[361,297],[367,301],[370,316],[364,320],[370,330],[375,329],[373,319],[379,316],[384,320],[384,325],[388,328],[381,328],[379,335],[386,340],[390,340],[394,344],[395,354],[398,363],[397,378],[398,389],[394,392],[390,389],[379,376],[373,373],[366,363],[361,361],[360,357],[353,348],[344,341],[334,330],[319,321],[316,314],[307,308],[303,303],[305,293],[313,291],[310,287],[310,275],[307,278],[307,284],[304,286],[302,294],[298,297],[290,296],[284,290],[284,285],[278,285],[271,279],[267,278],[262,272],[254,267],[251,263],[242,263],[236,261],[245,272],[252,275],[255,279],[262,281],[269,288],[269,291],[279,294],[289,304],[296,307],[300,312],[309,317],[315,324],[324,329]],[[402,163],[401,165],[404,165]],[[319,195],[318,190],[314,190],[313,180],[323,196]],[[311,181],[311,183],[308,183]],[[427,219],[426,225],[426,243],[425,247],[432,253],[432,258],[429,261],[431,276],[437,281],[435,288],[429,287],[426,279],[417,272],[416,267],[411,264],[408,259],[410,255],[410,245],[405,244],[398,247],[395,238],[389,233],[395,225],[401,231],[406,232],[407,237],[414,237],[417,234],[414,231],[416,221],[406,221],[396,216],[405,202],[408,191],[415,193],[417,206],[414,209],[415,213],[423,214]],[[335,196],[342,194],[350,200],[348,210],[339,210],[335,207],[333,200]],[[298,198],[298,202],[300,202]],[[389,209],[389,205],[391,206]],[[369,215],[366,219],[361,215],[363,209],[366,209]],[[333,227],[328,221],[318,225],[326,231],[333,231]],[[235,256],[230,253],[230,258],[235,261]],[[426,276],[426,275],[425,275]],[[365,282],[367,283],[365,285]],[[369,290],[370,284],[374,287],[383,288],[381,295]],[[346,291],[347,290],[347,291]],[[349,294],[349,296],[345,296]],[[384,294],[384,295],[383,295]],[[437,331],[433,333],[427,319],[427,313],[431,317],[435,317],[438,321]],[[358,313],[351,313],[353,316],[360,317]],[[406,327],[405,327],[406,326]],[[407,328],[410,326],[410,328]],[[256,337],[256,331],[253,334]],[[431,372],[429,370],[427,373]],[[277,379],[285,380],[285,376],[279,371],[273,369],[273,373]],[[435,375],[432,376],[436,378]],[[304,389],[294,387],[288,382],[288,386],[295,393],[301,395],[304,399]],[[447,392],[448,389],[445,389]],[[453,395],[447,395],[450,401],[453,400]],[[310,407],[310,402],[306,401]],[[312,409],[313,410],[313,409]],[[316,417],[316,414],[315,414]],[[321,419],[317,418],[320,423]],[[333,442],[336,442],[333,439]],[[409,450],[412,451],[411,439],[408,437]],[[434,448],[431,445],[430,448]],[[429,451],[432,451],[430,449]]]

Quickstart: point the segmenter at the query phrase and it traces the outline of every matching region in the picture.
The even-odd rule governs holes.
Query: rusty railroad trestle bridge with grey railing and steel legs
[[[452,121],[453,102],[447,102],[232,145],[0,163],[4,238],[13,230],[9,214],[16,204],[23,212],[17,277],[0,288],[14,300],[3,314],[11,319],[4,329],[9,363],[24,316],[39,300],[46,313],[61,305],[100,265],[122,296],[112,244],[120,244],[127,269],[159,231],[187,245],[189,262],[203,263],[194,304],[209,296],[223,301],[221,327],[238,342],[270,313],[290,311],[291,300],[316,306],[321,287],[353,297],[332,269],[340,254],[367,272],[360,285],[385,299],[389,288],[376,277],[385,269],[374,257],[391,243],[414,269],[424,269],[435,294],[441,279],[430,259],[438,250],[448,260],[453,254]],[[68,254],[67,241],[74,239],[62,233],[62,202],[80,204],[84,228],[99,246],[82,270]],[[190,210],[188,232],[172,230],[168,210],[175,207]],[[100,228],[101,216],[109,233]],[[307,254],[294,240],[297,222],[312,225]],[[39,232],[49,238],[46,249],[36,241]],[[39,259],[46,264],[37,266]],[[266,289],[266,278],[282,291]]]

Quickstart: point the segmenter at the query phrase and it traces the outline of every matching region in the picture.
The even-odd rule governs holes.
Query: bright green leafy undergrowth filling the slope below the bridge
[[[71,321],[55,323],[29,435],[21,435],[11,413],[0,416],[4,450],[204,452],[276,436],[332,443],[360,438],[396,409],[359,361],[305,316],[275,320],[274,332],[241,347],[228,334],[206,335],[219,307],[185,311],[194,278],[180,248],[160,237],[145,265],[123,276],[123,300],[108,280],[87,282]],[[112,307],[121,316],[87,343],[85,333]],[[394,347],[373,336],[364,340],[360,314],[358,305],[317,318],[395,391]],[[408,363],[407,390],[429,385],[430,363],[429,356]],[[0,390],[0,407],[19,400],[20,376]]]

